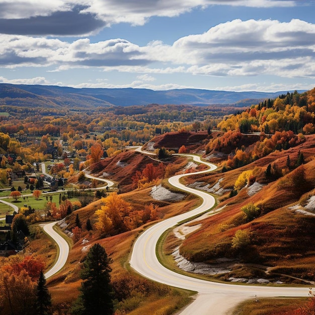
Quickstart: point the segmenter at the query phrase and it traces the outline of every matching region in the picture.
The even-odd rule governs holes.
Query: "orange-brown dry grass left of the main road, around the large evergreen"
[[[165,217],[173,216],[190,210],[196,205],[198,199],[187,198],[186,201],[180,203],[168,203],[154,201],[149,195],[150,189],[133,191],[121,196],[124,200],[133,204],[134,207],[156,203],[160,206],[160,211]],[[87,218],[92,218],[94,211],[100,206],[100,201],[89,204],[87,207],[74,211],[69,219],[70,224],[74,224],[76,213],[79,214],[81,222]],[[150,223],[151,224],[151,223]],[[128,285],[134,283],[138,288],[145,288],[141,294],[135,289],[130,289],[129,297],[118,303],[118,307],[122,310],[128,309],[130,314],[144,314],[147,310],[154,310],[156,314],[171,314],[175,310],[189,302],[189,294],[186,291],[170,289],[164,285],[153,283],[129,270],[128,257],[138,234],[145,228],[139,227],[135,230],[115,235],[113,237],[99,239],[97,233],[93,232],[88,235],[89,243],[83,245],[76,243],[70,250],[69,258],[65,268],[56,276],[49,278],[48,285],[52,294],[52,299],[57,308],[66,311],[69,304],[78,295],[77,288],[80,287],[80,262],[83,261],[87,250],[83,251],[84,246],[93,246],[100,243],[106,249],[108,255],[113,259],[112,281],[115,283],[121,278],[129,279]],[[161,293],[162,292],[162,293]],[[122,313],[122,312],[121,312]],[[152,312],[149,312],[152,313]],[[120,314],[119,311],[117,314]]]

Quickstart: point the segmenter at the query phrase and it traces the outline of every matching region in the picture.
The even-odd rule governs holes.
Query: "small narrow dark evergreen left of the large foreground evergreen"
[[[36,314],[51,314],[51,296],[46,286],[46,279],[43,272],[40,272],[36,287]]]

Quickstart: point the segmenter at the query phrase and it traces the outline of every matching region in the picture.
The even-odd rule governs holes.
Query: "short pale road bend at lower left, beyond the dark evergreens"
[[[57,273],[59,270],[62,269],[62,267],[65,265],[67,258],[68,258],[68,254],[69,254],[69,245],[68,243],[65,241],[65,239],[63,239],[61,237],[61,235],[59,235],[54,229],[53,226],[56,224],[57,222],[51,222],[51,223],[46,223],[46,224],[40,224],[44,231],[56,242],[57,246],[59,247],[59,257],[56,261],[56,263],[52,266],[51,269],[49,269],[44,276],[46,278],[51,277],[52,275],[54,275],[55,273]]]

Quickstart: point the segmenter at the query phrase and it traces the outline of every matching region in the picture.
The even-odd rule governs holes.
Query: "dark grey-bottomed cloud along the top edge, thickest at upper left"
[[[80,36],[117,23],[143,25],[150,17],[174,17],[210,5],[292,7],[289,0],[0,0],[3,34]]]

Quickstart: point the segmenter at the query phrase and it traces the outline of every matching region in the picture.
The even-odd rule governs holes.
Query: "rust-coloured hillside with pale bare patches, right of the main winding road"
[[[300,152],[305,157],[304,165],[279,179],[266,177],[269,164],[285,169],[288,154],[293,162]],[[193,262],[214,265],[223,258],[227,259],[230,271],[217,276],[223,280],[263,277],[268,281],[312,281],[315,252],[311,244],[315,237],[315,209],[306,210],[304,206],[314,194],[314,155],[315,136],[311,135],[294,148],[271,153],[245,167],[224,174],[190,178],[192,187],[197,182],[199,189],[210,191],[216,184],[213,192],[220,194],[218,208],[221,212],[192,224],[201,223],[202,226],[187,235],[180,247],[181,255]],[[256,170],[259,174],[256,180],[248,183],[236,196],[231,196],[240,174],[248,170]],[[246,218],[242,211],[249,204],[258,208],[259,214],[255,218]],[[238,230],[247,231],[250,242],[233,248],[232,239]],[[266,270],[268,274],[265,274]],[[298,279],[293,280],[292,276]]]

